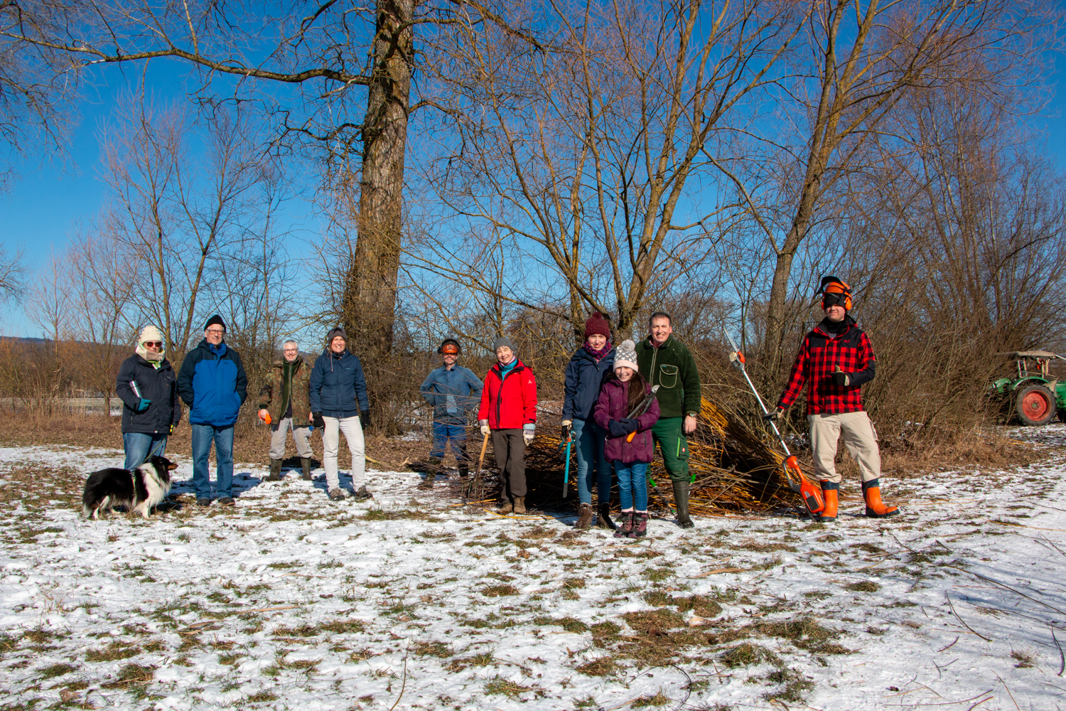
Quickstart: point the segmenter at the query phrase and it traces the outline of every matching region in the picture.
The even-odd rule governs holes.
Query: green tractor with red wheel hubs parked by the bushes
[[[1066,382],[1051,376],[1051,361],[1066,360],[1048,351],[1015,351],[997,353],[1015,360],[1017,374],[1001,377],[989,389],[1013,405],[1022,424],[1041,425],[1059,414],[1066,422]]]

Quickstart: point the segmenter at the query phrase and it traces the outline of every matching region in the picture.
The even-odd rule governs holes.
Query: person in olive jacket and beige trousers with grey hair
[[[300,344],[288,340],[281,344],[281,358],[275,360],[270,376],[259,388],[259,419],[270,422],[270,475],[268,482],[281,479],[285,440],[292,430],[296,454],[304,479],[311,479],[311,404],[308,394],[311,367],[300,355]],[[271,404],[274,405],[271,411]]]

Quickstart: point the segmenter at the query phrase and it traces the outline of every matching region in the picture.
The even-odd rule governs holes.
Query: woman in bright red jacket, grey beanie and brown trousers
[[[492,435],[492,452],[500,468],[501,514],[526,513],[526,446],[536,433],[536,378],[533,369],[515,356],[506,336],[492,341],[497,363],[485,376],[478,423]]]

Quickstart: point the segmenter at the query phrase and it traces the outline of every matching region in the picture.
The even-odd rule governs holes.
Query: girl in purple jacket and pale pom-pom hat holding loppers
[[[645,474],[655,455],[651,425],[659,419],[659,403],[644,415],[629,419],[641,402],[651,392],[636,368],[633,341],[623,341],[614,356],[614,377],[608,377],[600,390],[593,419],[607,430],[604,455],[614,463],[621,499],[621,521],[615,538],[639,538],[648,530],[648,483]],[[629,436],[633,434],[632,440]]]

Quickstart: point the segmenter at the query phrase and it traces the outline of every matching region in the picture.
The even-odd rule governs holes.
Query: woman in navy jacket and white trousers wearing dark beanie
[[[326,335],[310,381],[311,414],[314,426],[322,427],[322,466],[326,470],[329,498],[340,501],[344,492],[337,473],[337,450],[344,433],[352,451],[352,488],[357,501],[370,498],[367,490],[367,449],[362,437],[370,426],[370,401],[367,379],[359,358],[348,350],[348,335],[337,326]]]

